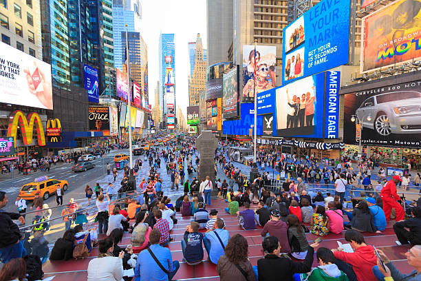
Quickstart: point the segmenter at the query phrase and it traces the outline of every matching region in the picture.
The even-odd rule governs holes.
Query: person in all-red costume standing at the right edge
[[[383,211],[385,211],[386,220],[390,220],[392,208],[396,211],[396,221],[404,220],[404,209],[396,202],[400,200],[396,191],[396,184],[400,181],[402,181],[400,176],[393,176],[393,178],[386,183],[385,187],[383,187],[380,194],[383,200]]]

